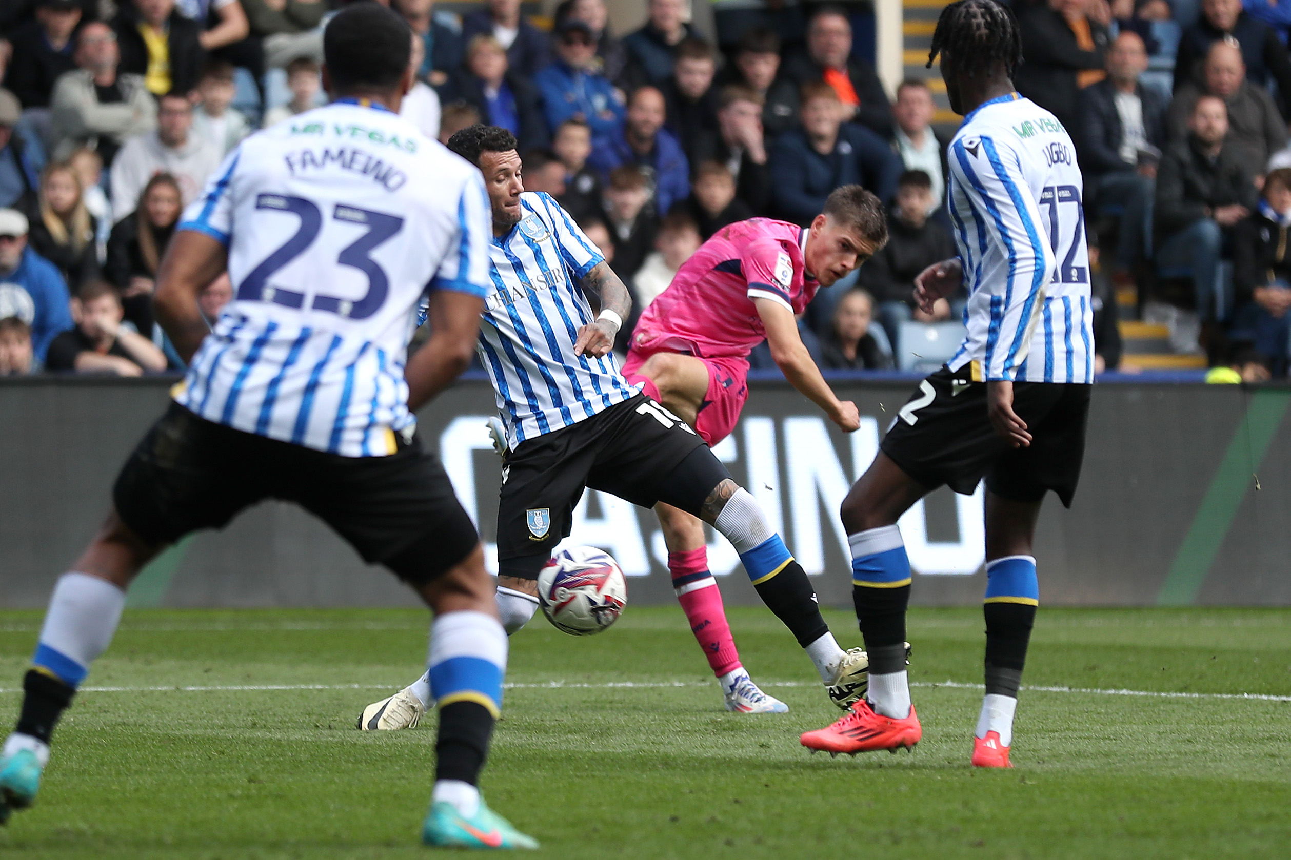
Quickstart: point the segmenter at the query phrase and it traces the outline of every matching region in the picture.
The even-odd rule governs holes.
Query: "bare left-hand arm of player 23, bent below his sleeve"
[[[223,273],[227,263],[222,242],[187,230],[170,239],[161,259],[152,293],[152,315],[185,362],[192,361],[203,338],[210,331],[198,308],[198,294]]]

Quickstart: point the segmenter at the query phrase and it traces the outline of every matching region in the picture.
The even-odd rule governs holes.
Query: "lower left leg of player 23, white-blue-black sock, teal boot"
[[[139,540],[114,511],[74,569],[58,578],[22,679],[18,725],[0,749],[0,824],[35,802],[54,726],[90,663],[112,641],[125,587],[159,549]]]

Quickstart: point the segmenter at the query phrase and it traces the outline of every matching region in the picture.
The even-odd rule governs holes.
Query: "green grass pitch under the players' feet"
[[[39,620],[0,612],[5,722]],[[731,621],[789,714],[723,712],[675,607],[593,638],[534,619],[511,641],[489,803],[555,857],[1291,855],[1291,701],[1024,690],[1016,768],[975,772],[981,692],[932,685],[980,681],[980,612],[918,610],[923,743],[831,759],[798,744],[838,712],[791,637],[762,610]],[[425,856],[434,721],[354,728],[421,670],[425,636],[413,611],[128,612],[86,682],[125,690],[80,694],[0,857]],[[1042,609],[1026,681],[1286,696],[1291,611]],[[318,689],[230,689],[272,685]]]

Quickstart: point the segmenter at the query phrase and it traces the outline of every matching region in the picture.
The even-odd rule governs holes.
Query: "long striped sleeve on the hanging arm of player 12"
[[[1013,380],[1026,361],[1032,333],[1053,275],[1053,250],[1046,241],[1039,204],[1022,177],[1017,152],[990,137],[962,138],[950,153],[951,171],[981,213],[997,260],[976,289],[990,297],[984,375]]]

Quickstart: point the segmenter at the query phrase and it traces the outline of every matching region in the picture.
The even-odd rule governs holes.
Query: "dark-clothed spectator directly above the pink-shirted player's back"
[[[767,211],[771,174],[762,128],[762,97],[747,86],[723,86],[718,101],[718,130],[696,142],[692,164],[718,161],[735,178],[736,196],[754,213]]]

